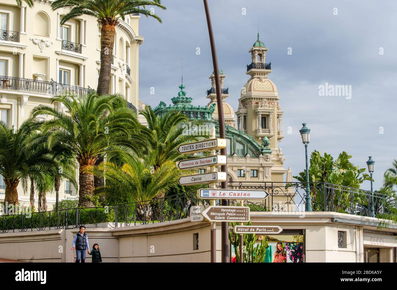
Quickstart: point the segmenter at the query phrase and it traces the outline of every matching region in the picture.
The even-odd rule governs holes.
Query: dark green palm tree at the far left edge
[[[29,177],[54,168],[53,158],[42,146],[36,147],[35,150],[28,147],[31,135],[39,128],[40,123],[32,118],[23,122],[15,133],[13,128],[8,128],[0,122],[0,175],[6,183],[4,202],[8,204],[18,203],[17,186],[20,181],[26,190]]]

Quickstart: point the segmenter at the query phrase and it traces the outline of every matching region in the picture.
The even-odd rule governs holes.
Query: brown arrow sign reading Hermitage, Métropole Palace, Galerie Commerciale
[[[209,221],[249,222],[248,206],[210,206],[201,214]]]

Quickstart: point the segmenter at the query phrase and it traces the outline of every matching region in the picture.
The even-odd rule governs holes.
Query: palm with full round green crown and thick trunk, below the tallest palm
[[[141,125],[133,110],[126,106],[114,109],[114,103],[126,102],[120,95],[54,96],[51,103],[56,102],[62,103],[68,114],[39,105],[33,109],[32,116],[53,117],[41,126],[42,133],[48,135],[47,147],[52,150],[60,146],[73,153],[79,163],[79,206],[94,206],[93,165],[98,155],[118,151],[119,146],[138,152],[142,140],[135,130]],[[105,111],[108,111],[106,116]]]

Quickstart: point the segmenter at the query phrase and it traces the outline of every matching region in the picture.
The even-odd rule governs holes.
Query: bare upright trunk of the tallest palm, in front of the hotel
[[[113,25],[102,25],[100,39],[100,72],[98,78],[98,95],[109,93],[111,65],[113,56],[114,36],[116,29]]]

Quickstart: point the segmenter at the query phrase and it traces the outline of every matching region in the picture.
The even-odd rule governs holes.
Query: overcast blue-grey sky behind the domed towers
[[[260,40],[269,48],[269,78],[278,88],[284,139],[279,143],[293,175],[304,170],[304,146],[299,129],[311,129],[309,151],[353,155],[366,168],[376,162],[374,189],[397,158],[396,71],[397,2],[395,1],[264,1],[208,0],[219,67],[227,75],[227,102],[237,111],[241,87],[249,76],[248,53]],[[206,105],[208,77],[213,71],[202,0],[163,0],[155,10],[163,23],[142,17],[139,34],[139,99],[167,105],[183,83],[193,105]],[[337,8],[337,10],[335,10]],[[243,12],[246,11],[246,15]],[[337,15],[334,15],[337,13]],[[196,49],[200,48],[200,55]],[[292,54],[288,54],[288,48]],[[383,54],[382,53],[383,50]],[[351,98],[320,96],[319,86],[351,86]],[[150,88],[154,87],[154,95]],[[288,127],[292,134],[287,134]],[[383,127],[383,134],[380,134]],[[370,189],[369,181],[362,185]]]

